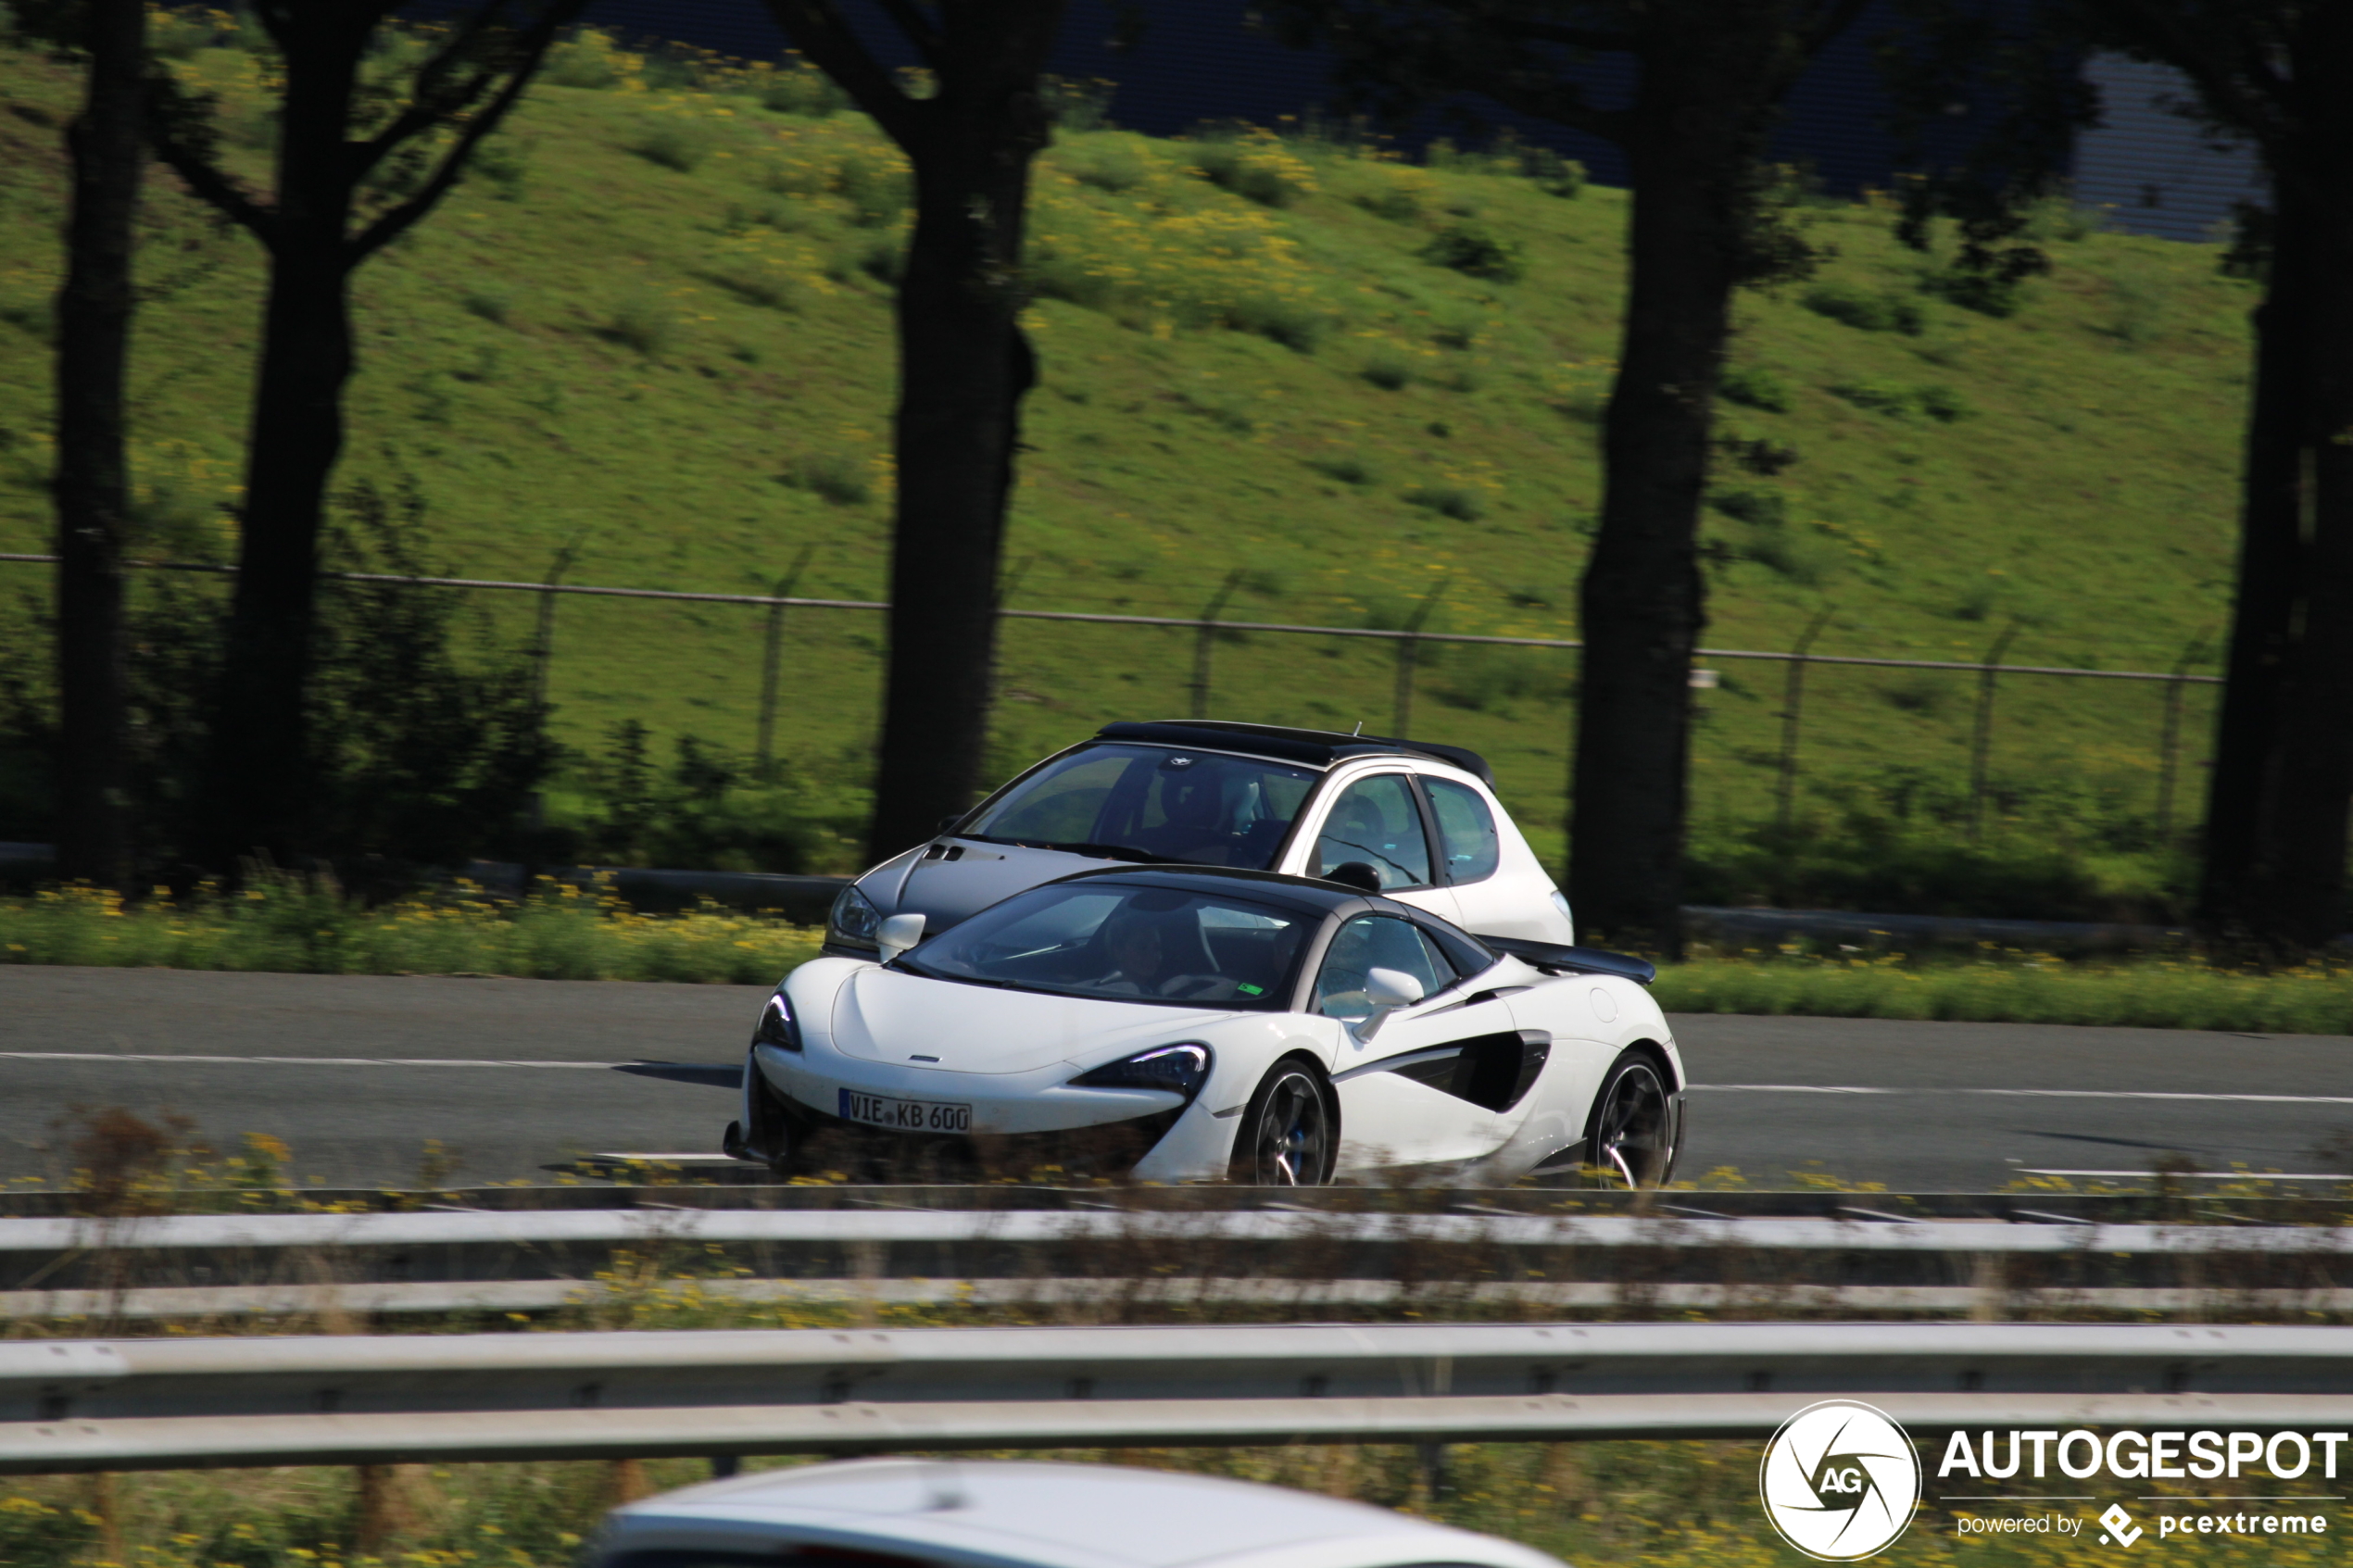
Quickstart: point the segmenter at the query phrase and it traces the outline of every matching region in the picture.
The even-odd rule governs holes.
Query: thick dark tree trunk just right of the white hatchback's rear
[[[1626,139],[1631,277],[1602,428],[1602,522],[1581,588],[1569,905],[1593,940],[1680,954],[1692,649],[1706,623],[1699,503],[1737,235],[1715,179],[1722,150],[1706,150],[1687,110],[1659,99],[1638,108]]]

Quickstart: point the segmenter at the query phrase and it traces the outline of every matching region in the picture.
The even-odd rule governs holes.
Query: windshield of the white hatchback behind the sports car
[[[1113,860],[1271,870],[1311,769],[1160,745],[1087,745],[1045,764],[960,837]]]

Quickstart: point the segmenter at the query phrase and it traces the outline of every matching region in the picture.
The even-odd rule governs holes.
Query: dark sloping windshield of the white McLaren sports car
[[[939,980],[1108,1001],[1289,1006],[1311,914],[1219,893],[1049,882],[899,957]]]

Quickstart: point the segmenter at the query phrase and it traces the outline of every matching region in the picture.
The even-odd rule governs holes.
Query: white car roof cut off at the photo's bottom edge
[[[798,1547],[948,1568],[1562,1568],[1494,1535],[1313,1493],[1113,1465],[845,1460],[616,1509],[600,1563]],[[725,1559],[720,1559],[725,1561]]]

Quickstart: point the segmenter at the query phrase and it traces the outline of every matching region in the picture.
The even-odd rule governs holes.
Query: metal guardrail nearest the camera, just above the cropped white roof
[[[2353,1328],[1515,1324],[0,1342],[0,1474],[2353,1422]]]

